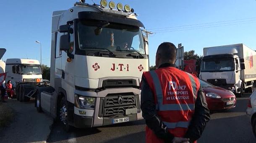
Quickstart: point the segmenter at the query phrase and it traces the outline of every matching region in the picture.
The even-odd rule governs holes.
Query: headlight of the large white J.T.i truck
[[[85,97],[75,94],[75,105],[78,108],[83,109],[94,109],[95,107],[95,98],[94,97]]]

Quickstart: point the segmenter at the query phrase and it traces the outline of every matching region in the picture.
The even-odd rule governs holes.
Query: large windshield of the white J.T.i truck
[[[135,50],[145,54],[142,32],[138,27],[88,20],[79,21],[77,27],[81,50],[90,48],[108,49],[112,52]]]

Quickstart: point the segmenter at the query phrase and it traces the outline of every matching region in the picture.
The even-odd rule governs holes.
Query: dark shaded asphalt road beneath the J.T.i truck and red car
[[[212,113],[198,143],[256,143],[249,117],[246,116],[249,95],[238,98],[237,106],[231,110]],[[66,133],[55,123],[47,142],[144,143],[144,130],[143,120],[102,128],[74,129],[71,133]]]

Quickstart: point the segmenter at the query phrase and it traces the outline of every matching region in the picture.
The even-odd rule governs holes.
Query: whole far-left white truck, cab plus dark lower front
[[[17,100],[29,101],[36,93],[36,87],[42,82],[42,71],[38,60],[6,59],[6,81],[11,80]]]

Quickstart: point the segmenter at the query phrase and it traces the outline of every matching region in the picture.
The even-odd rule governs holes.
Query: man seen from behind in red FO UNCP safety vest
[[[210,120],[199,80],[176,68],[176,47],[159,45],[154,71],[141,80],[141,110],[146,120],[146,143],[193,143]]]

